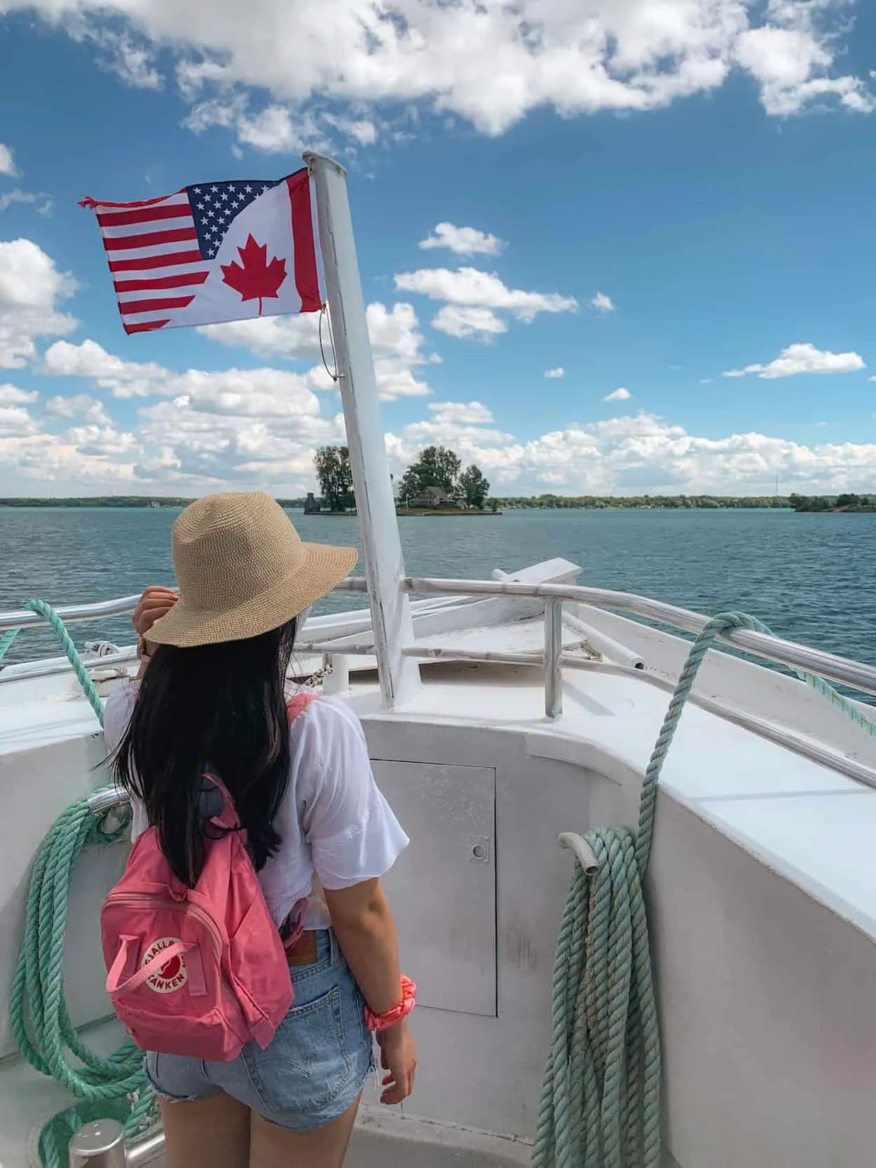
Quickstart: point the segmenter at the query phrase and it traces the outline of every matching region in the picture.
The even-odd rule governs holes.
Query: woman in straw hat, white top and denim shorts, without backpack
[[[382,1101],[411,1091],[416,1049],[383,876],[408,844],[371,774],[362,728],[320,697],[290,726],[285,681],[306,611],[356,552],[303,543],[262,493],[208,495],[173,528],[179,600],[152,588],[134,612],[138,680],[106,704],[117,780],[134,837],[158,829],[189,887],[217,808],[207,769],[228,787],[271,915],[288,950],[294,1002],[273,1042],[231,1063],[146,1056],[168,1168],[339,1168],[373,1069]],[[394,1024],[390,1024],[394,1023]]]

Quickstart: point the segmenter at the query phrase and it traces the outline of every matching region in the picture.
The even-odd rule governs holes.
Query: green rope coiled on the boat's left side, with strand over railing
[[[58,634],[103,725],[103,702],[63,621],[42,600],[30,600],[26,607],[44,617]],[[77,799],[53,823],[30,875],[25,937],[12,987],[12,1029],[30,1065],[79,1100],[42,1128],[37,1152],[44,1168],[67,1168],[70,1138],[89,1120],[118,1119],[128,1136],[142,1133],[155,1121],[155,1098],[144,1070],[142,1051],[125,1042],[109,1058],[97,1055],[70,1021],[64,1000],[67,902],[76,861],[86,847],[121,840],[128,822],[123,818],[107,830],[104,816],[92,812],[86,799]]]

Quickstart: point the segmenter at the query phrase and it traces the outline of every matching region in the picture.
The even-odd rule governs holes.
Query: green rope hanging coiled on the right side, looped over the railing
[[[637,836],[625,827],[598,827],[584,836],[599,867],[588,876],[576,860],[563,910],[533,1168],[660,1164],[660,1030],[642,885],[667,751],[703,658],[731,628],[772,635],[743,612],[721,613],[703,627],[645,771]],[[809,674],[800,676],[876,737],[876,724],[832,686]]]

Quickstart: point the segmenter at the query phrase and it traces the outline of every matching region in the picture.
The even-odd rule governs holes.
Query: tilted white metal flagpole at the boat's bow
[[[377,411],[377,383],[347,199],[347,173],[338,162],[311,151],[304,160],[317,194],[381,694],[383,705],[392,709],[416,693],[419,669],[415,660],[403,655],[404,647],[413,644],[413,623],[408,595],[402,590],[404,561]]]

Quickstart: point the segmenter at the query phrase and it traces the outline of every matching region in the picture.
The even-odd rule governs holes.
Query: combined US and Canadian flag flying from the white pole
[[[81,206],[97,215],[128,334],[322,307],[306,169]]]

